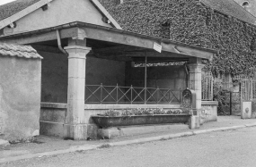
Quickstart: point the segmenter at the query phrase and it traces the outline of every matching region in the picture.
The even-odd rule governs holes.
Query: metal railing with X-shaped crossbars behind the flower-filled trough
[[[86,85],[85,104],[181,104],[181,88]]]

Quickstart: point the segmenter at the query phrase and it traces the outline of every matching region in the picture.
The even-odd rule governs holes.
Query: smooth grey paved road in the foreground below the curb
[[[256,128],[212,132],[130,146],[115,146],[2,163],[12,167],[181,166],[255,167]]]

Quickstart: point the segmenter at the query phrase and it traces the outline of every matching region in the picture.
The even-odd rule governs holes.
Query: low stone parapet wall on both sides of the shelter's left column
[[[109,109],[122,110],[127,108],[163,108],[179,109],[180,104],[85,104],[84,113],[89,119],[87,133],[89,138],[97,138],[98,127],[91,116],[103,114]],[[40,110],[40,134],[64,137],[64,124],[66,119],[66,104],[42,103]]]

